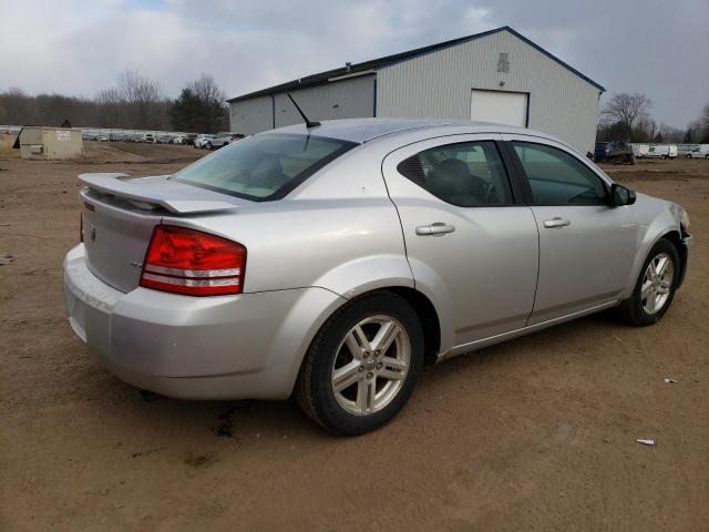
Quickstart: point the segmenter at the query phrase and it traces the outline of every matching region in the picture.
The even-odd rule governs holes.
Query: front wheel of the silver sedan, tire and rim
[[[669,262],[662,264],[668,264],[666,268],[671,269],[664,269],[664,274],[658,275],[657,268],[662,259]],[[653,277],[650,268],[657,277]],[[660,238],[643,263],[633,295],[616,308],[617,316],[636,327],[659,321],[672,304],[680,269],[677,248],[668,239]]]

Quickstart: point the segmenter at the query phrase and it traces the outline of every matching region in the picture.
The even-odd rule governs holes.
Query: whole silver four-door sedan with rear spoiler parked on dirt
[[[543,133],[345,120],[254,135],[174,175],[84,174],[69,321],[117,377],[286,399],[373,430],[424,366],[615,307],[668,310],[687,213]]]

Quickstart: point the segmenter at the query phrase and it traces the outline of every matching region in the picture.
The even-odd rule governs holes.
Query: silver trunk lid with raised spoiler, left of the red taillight
[[[153,228],[164,215],[228,211],[251,202],[168,180],[82,174],[80,193],[88,267],[121,291],[138,286]]]

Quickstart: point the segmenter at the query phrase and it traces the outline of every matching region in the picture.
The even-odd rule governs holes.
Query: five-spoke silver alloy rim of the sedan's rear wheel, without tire
[[[338,347],[331,385],[338,405],[349,413],[367,416],[397,397],[411,364],[411,340],[389,316],[359,321]]]

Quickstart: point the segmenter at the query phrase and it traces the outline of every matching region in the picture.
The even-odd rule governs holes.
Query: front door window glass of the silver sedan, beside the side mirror
[[[575,156],[545,144],[513,142],[532,188],[534,205],[605,205],[607,192]]]

